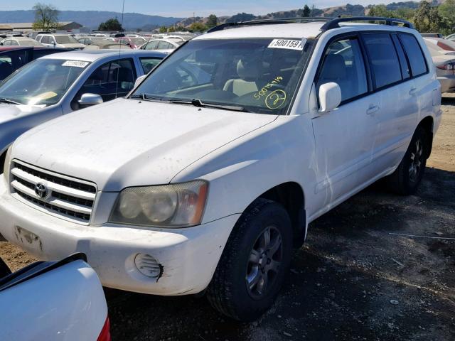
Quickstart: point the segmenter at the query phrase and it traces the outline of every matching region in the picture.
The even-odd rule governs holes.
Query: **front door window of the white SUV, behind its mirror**
[[[342,101],[368,91],[365,63],[357,38],[336,40],[328,46],[316,79],[316,90],[319,92],[319,87],[329,82],[341,87]]]

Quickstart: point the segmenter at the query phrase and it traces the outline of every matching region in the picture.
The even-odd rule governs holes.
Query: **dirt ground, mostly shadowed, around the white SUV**
[[[417,195],[380,184],[311,224],[274,307],[235,323],[205,299],[106,289],[113,340],[455,340],[455,96]],[[13,269],[32,259],[0,242]]]

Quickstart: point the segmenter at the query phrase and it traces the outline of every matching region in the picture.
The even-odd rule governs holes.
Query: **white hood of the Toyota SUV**
[[[119,191],[169,183],[183,168],[276,116],[117,99],[49,121],[12,158]]]

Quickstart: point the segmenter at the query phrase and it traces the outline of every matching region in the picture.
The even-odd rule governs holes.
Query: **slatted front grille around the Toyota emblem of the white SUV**
[[[11,164],[10,178],[13,194],[16,193],[31,205],[67,220],[85,224],[90,221],[97,193],[95,184],[16,160]],[[39,197],[35,192],[36,184],[39,183],[45,186],[45,197]]]

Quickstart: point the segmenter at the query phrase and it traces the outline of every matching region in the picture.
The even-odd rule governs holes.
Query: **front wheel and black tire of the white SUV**
[[[279,237],[281,244],[277,247]],[[235,320],[256,320],[274,303],[287,276],[291,255],[292,228],[287,211],[272,200],[255,200],[232,230],[208,286],[208,301]],[[268,285],[264,284],[265,277]],[[247,286],[249,279],[252,288]]]

